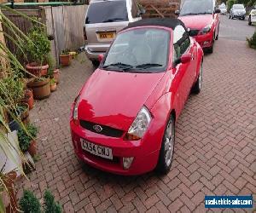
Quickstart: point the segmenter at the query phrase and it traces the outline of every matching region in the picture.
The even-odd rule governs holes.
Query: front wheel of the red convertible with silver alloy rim
[[[175,120],[171,115],[166,124],[166,130],[161,143],[158,164],[156,166],[156,170],[162,175],[166,175],[171,169],[172,158],[174,153],[174,145],[175,145]]]

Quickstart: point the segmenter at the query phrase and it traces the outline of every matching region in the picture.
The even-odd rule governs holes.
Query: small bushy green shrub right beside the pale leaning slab
[[[32,140],[38,135],[38,128],[33,124],[27,124],[26,130],[18,130],[20,150],[26,152]]]

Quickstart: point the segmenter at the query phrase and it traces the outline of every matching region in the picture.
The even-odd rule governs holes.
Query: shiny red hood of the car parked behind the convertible
[[[184,25],[190,29],[201,30],[207,25],[212,25],[213,16],[212,14],[184,15],[179,16],[178,19],[182,20]]]

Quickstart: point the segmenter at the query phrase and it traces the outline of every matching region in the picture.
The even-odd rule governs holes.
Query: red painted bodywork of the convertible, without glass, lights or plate
[[[85,130],[73,121],[73,107],[70,118],[73,147],[77,156],[100,170],[125,176],[154,170],[167,119],[170,113],[175,113],[177,120],[190,89],[198,78],[203,57],[200,45],[191,38],[188,52],[193,60],[173,67],[172,29],[145,27],[162,28],[170,32],[170,61],[166,72],[123,73],[97,69],[79,93],[79,119],[124,130],[124,135],[114,138]],[[148,107],[152,115],[148,130],[141,140],[126,141],[125,133],[143,106]],[[81,139],[112,148],[116,160],[110,161],[85,152],[81,147]],[[134,157],[134,160],[130,169],[124,170],[122,158],[127,157]]]

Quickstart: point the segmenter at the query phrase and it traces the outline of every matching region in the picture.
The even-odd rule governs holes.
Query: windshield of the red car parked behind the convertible
[[[212,14],[212,0],[186,0],[183,3],[180,15],[187,14]]]

